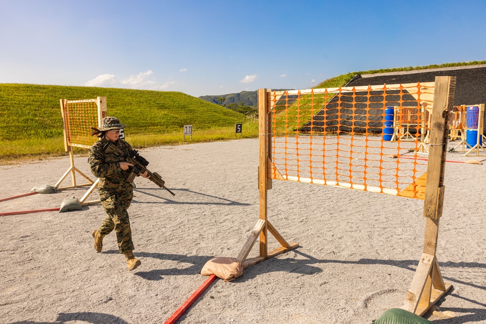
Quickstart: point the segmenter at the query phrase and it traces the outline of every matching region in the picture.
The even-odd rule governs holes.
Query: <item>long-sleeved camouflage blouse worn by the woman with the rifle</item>
[[[100,178],[98,190],[117,191],[121,185],[128,185],[126,179],[130,169],[121,170],[120,162],[125,162],[132,147],[123,139],[117,139],[116,145],[125,153],[125,156],[119,156],[115,153],[104,153],[103,147],[106,143],[108,140],[103,137],[93,144],[89,149],[88,163],[94,176]]]

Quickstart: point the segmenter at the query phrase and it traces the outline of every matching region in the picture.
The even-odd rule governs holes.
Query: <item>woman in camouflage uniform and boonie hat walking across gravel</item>
[[[132,242],[132,231],[127,212],[133,198],[132,185],[126,180],[131,171],[130,169],[122,170],[120,163],[125,162],[132,147],[123,139],[117,138],[114,143],[123,151],[124,155],[105,153],[103,148],[110,140],[105,133],[101,133],[121,129],[125,126],[121,125],[120,120],[115,117],[105,117],[101,128],[93,128],[95,130],[93,133],[96,133],[97,130],[99,131],[98,136],[103,136],[89,150],[88,163],[91,172],[100,179],[98,192],[104,210],[108,215],[100,228],[92,233],[95,239],[94,247],[97,252],[101,252],[104,236],[115,230],[118,249],[121,254],[127,257],[129,270],[133,270],[141,262],[135,259],[132,254],[135,247]]]

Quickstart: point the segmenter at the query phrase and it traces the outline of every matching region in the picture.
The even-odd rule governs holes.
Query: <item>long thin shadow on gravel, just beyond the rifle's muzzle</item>
[[[175,201],[171,200],[167,197],[172,197],[167,191],[162,188],[136,188],[134,189],[135,192],[139,192],[145,194],[147,196],[155,197],[161,199],[161,202],[151,201],[151,202],[139,202],[136,199],[133,199],[132,202],[138,204],[173,204],[173,205],[225,205],[225,206],[249,206],[251,204],[243,204],[239,202],[235,202],[226,198],[211,196],[205,193],[192,191],[189,189],[179,188],[179,189],[172,189],[172,191],[179,191],[182,195],[177,195],[176,197],[182,197],[181,199],[185,199],[186,201]],[[161,191],[160,195],[156,195],[150,193],[150,190],[157,190]],[[167,194],[167,195],[166,195]]]

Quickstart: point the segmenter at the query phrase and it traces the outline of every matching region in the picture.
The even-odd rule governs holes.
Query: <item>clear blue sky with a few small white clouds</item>
[[[0,0],[0,83],[219,95],[486,60],[486,1]]]

